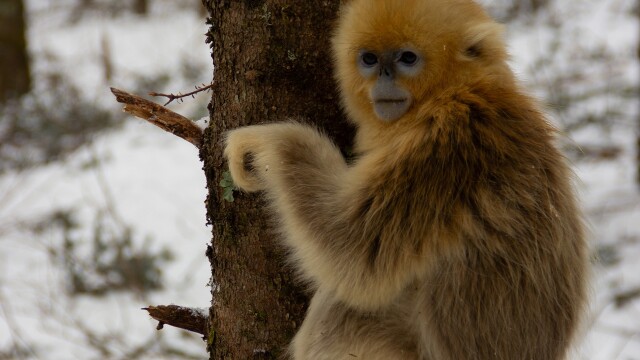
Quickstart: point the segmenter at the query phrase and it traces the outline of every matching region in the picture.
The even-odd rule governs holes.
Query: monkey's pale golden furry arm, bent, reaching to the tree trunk
[[[266,191],[303,274],[347,304],[389,304],[425,269],[424,234],[401,218],[411,205],[397,196],[408,190],[380,174],[386,159],[348,167],[328,138],[298,124],[231,131],[225,155],[239,187]]]

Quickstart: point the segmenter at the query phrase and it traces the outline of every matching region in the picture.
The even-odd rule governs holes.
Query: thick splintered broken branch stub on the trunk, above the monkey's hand
[[[124,111],[147,120],[153,125],[179,136],[195,145],[198,149],[202,144],[202,129],[186,117],[175,113],[164,106],[158,105],[139,96],[125,91],[111,88],[119,103],[124,104]]]

